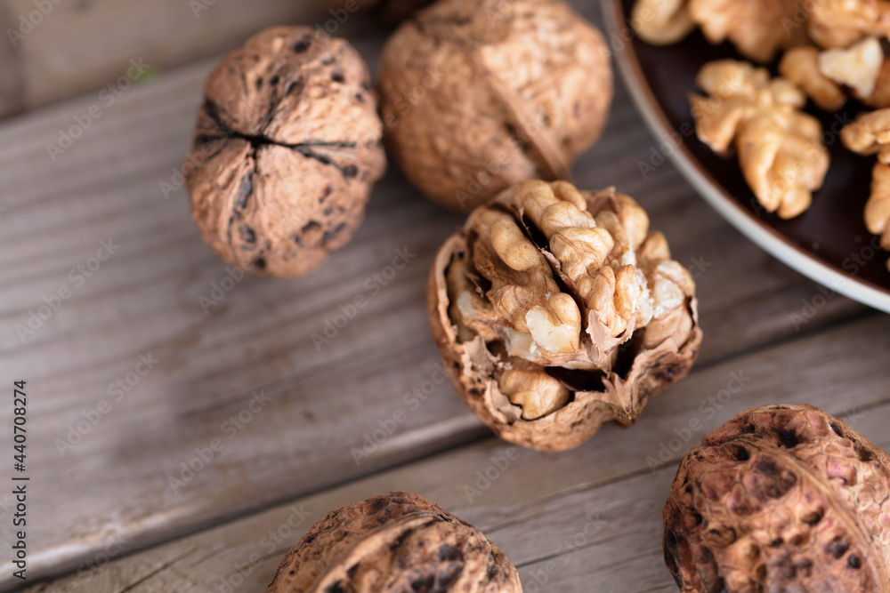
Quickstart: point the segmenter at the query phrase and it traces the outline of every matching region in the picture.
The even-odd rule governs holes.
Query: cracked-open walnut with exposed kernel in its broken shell
[[[688,373],[695,284],[629,196],[534,180],[474,210],[430,271],[433,336],[498,436],[558,451],[633,424]]]

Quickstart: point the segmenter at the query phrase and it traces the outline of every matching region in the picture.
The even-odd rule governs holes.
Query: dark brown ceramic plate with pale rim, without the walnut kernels
[[[688,95],[697,91],[695,75],[705,62],[743,58],[730,44],[708,44],[698,31],[667,47],[635,36],[619,41],[632,35],[627,15],[634,2],[603,0],[612,51],[651,131],[674,148],[665,152],[680,172],[717,212],[774,257],[837,292],[890,312],[890,253],[880,250],[877,236],[862,221],[874,159],[849,152],[837,135],[861,109],[854,102],[837,114],[807,107],[821,120],[831,153],[825,184],[813,194],[810,209],[795,219],[762,212],[737,159],[716,156],[696,138],[689,108]]]

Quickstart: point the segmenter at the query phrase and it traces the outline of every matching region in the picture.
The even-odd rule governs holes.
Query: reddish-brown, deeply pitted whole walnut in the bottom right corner
[[[890,591],[890,458],[812,405],[748,410],[704,437],[664,520],[683,591]]]

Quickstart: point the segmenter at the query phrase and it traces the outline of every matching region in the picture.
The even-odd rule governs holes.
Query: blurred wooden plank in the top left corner
[[[130,60],[166,70],[228,51],[260,28],[330,18],[312,0],[12,0],[0,8],[8,37],[0,48],[0,116],[85,92],[95,99],[126,76]]]

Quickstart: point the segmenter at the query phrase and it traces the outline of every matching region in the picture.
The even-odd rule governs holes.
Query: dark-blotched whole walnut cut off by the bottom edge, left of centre
[[[498,546],[433,501],[378,494],[312,525],[266,593],[519,593]]]

